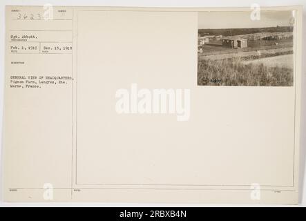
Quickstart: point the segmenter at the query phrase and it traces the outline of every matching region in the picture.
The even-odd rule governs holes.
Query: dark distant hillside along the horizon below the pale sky
[[[245,35],[258,32],[291,32],[293,26],[278,26],[268,28],[222,28],[222,29],[199,29],[198,32],[203,35]]]

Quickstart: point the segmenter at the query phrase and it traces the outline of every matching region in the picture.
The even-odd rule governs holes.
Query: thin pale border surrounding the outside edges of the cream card
[[[4,48],[5,48],[5,6],[37,6],[43,5],[45,3],[50,3],[55,6],[129,6],[129,7],[250,7],[253,3],[258,3],[261,7],[269,6],[303,6],[303,59],[305,61],[306,52],[306,1],[305,0],[214,0],[214,1],[201,1],[201,0],[52,0],[52,1],[0,1],[0,143],[2,144],[2,116],[3,116],[3,79],[4,79]],[[300,143],[300,189],[299,198],[300,202],[298,206],[306,206],[306,164],[305,164],[305,154],[306,154],[306,63],[303,63],[302,68],[302,116],[301,116],[301,143]],[[2,145],[1,145],[2,147]],[[282,205],[249,205],[249,204],[139,204],[139,203],[55,203],[55,202],[42,202],[42,203],[6,203],[3,202],[2,198],[2,148],[0,151],[0,207],[1,206],[282,206]]]

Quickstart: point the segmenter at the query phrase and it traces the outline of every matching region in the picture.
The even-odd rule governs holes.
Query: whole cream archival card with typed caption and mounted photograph
[[[4,200],[298,203],[301,22],[7,6]]]

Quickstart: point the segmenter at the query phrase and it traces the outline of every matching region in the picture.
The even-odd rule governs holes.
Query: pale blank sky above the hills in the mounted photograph
[[[260,11],[260,20],[244,12],[198,12],[198,28],[264,28],[289,26],[292,11]]]

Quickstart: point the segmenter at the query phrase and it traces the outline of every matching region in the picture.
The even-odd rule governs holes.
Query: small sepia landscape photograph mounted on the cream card
[[[292,11],[199,12],[199,86],[293,86]]]

